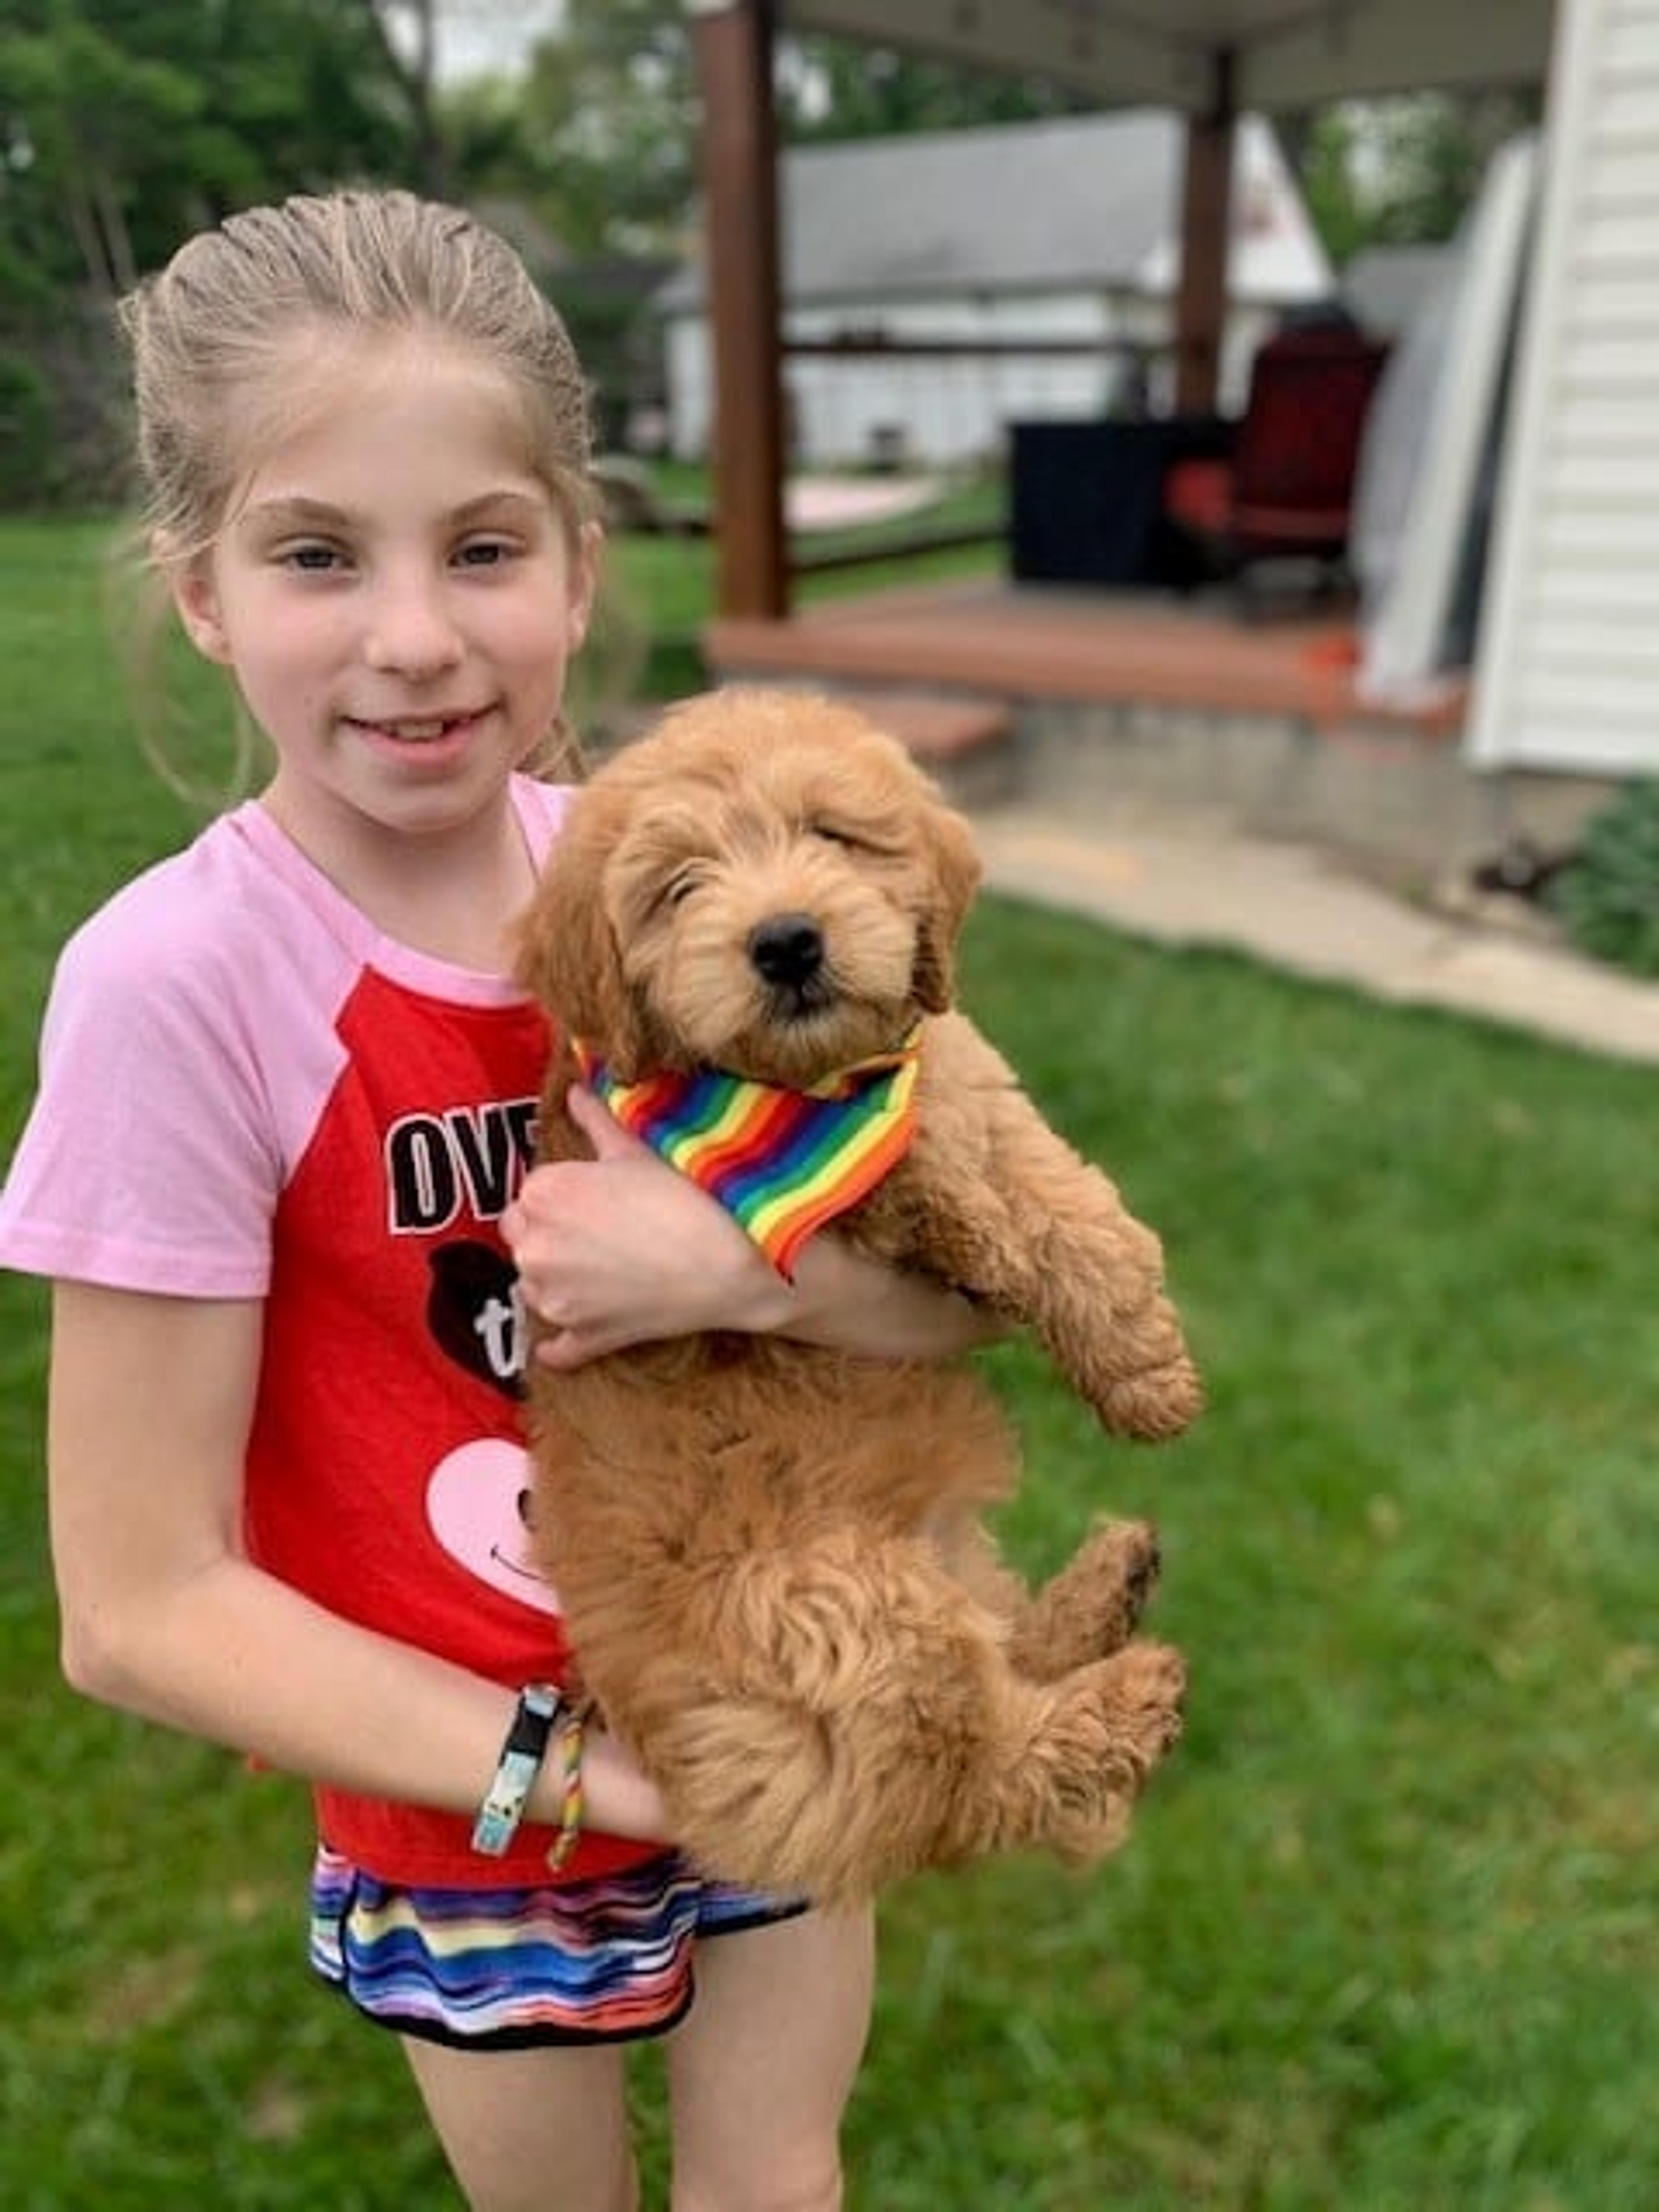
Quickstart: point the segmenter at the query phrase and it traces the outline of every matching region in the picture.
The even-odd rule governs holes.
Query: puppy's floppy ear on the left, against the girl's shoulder
[[[571,1037],[615,1060],[630,1037],[622,951],[604,896],[604,860],[615,843],[613,807],[588,785],[553,838],[531,905],[518,925],[513,971]]]

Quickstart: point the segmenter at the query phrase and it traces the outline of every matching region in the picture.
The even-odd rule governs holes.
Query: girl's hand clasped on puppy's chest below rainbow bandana
[[[699,1329],[774,1329],[790,1285],[723,1206],[624,1130],[591,1091],[568,1110],[593,1159],[533,1168],[502,1214],[549,1367]]]

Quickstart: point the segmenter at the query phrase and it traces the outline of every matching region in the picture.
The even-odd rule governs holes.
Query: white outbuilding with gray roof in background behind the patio
[[[1013,184],[1009,184],[1013,179]],[[1082,341],[1082,354],[794,354],[794,460],[847,467],[898,449],[925,465],[998,456],[1009,422],[1099,418],[1124,349],[1172,398],[1181,124],[1170,113],[1051,117],[980,131],[790,148],[781,168],[785,336],[880,334],[993,347]],[[1234,144],[1232,312],[1221,405],[1239,409],[1279,310],[1332,292],[1279,142],[1259,115]],[[661,294],[672,449],[710,445],[701,281]]]

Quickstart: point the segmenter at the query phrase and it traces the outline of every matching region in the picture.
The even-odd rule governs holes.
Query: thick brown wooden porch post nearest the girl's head
[[[688,0],[703,102],[721,615],[790,611],[772,0]]]

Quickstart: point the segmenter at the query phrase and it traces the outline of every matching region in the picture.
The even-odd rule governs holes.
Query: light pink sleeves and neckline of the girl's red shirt
[[[538,863],[566,801],[515,779]],[[334,1018],[372,958],[414,989],[453,982],[385,947],[257,805],[119,891],[58,964],[0,1265],[263,1296],[276,1201],[345,1062]]]

